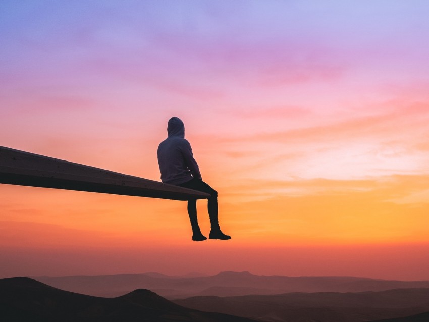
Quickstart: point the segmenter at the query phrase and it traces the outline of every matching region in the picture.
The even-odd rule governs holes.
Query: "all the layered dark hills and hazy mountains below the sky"
[[[427,281],[383,281],[353,277],[264,277],[248,272],[222,272],[215,276],[169,277],[159,273],[115,276],[44,277],[76,289],[106,292],[109,287],[134,290],[116,297],[78,294],[48,286],[30,278],[0,280],[1,321],[259,321],[259,322],[427,322],[429,288]],[[169,293],[220,292],[240,293],[255,290],[324,289],[321,292],[247,294],[241,296],[205,296],[167,300],[138,283],[152,283]],[[245,283],[250,283],[245,287]],[[290,282],[289,286],[287,281]],[[86,285],[84,283],[87,283]],[[108,284],[103,285],[103,283]],[[263,284],[265,282],[265,284]],[[275,282],[279,284],[275,285]],[[127,284],[128,283],[128,284]],[[200,284],[199,284],[200,283]],[[217,286],[219,283],[219,286]],[[230,286],[225,284],[230,283]],[[252,284],[253,283],[253,284]],[[281,284],[284,283],[284,284]],[[362,284],[359,284],[362,283]],[[264,285],[265,288],[260,286]],[[381,291],[340,292],[327,289],[364,287],[403,288]],[[97,286],[97,287],[96,287]],[[409,286],[410,288],[404,288]],[[417,286],[417,287],[414,287]],[[201,290],[203,290],[201,292]]]

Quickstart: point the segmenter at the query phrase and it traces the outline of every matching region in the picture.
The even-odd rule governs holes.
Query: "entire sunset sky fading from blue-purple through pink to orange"
[[[230,241],[186,202],[0,185],[0,278],[250,271],[429,280],[429,2],[0,2],[0,145],[160,181],[185,123]],[[206,201],[198,218],[209,232]]]

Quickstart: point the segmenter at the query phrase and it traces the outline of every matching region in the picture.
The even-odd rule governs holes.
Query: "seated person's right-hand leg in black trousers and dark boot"
[[[218,192],[215,189],[211,188],[204,181],[195,179],[195,178],[192,179],[191,181],[182,183],[179,186],[210,194],[210,197],[208,198],[208,202],[207,202],[207,210],[208,210],[208,216],[210,218],[210,226],[211,226],[209,238],[224,239],[224,240],[231,239],[231,236],[225,235],[219,227]],[[195,203],[196,203],[196,200],[195,200]],[[189,212],[189,202],[188,202],[188,212]],[[195,213],[196,213],[196,209],[195,209]],[[191,214],[189,214],[189,216],[191,216]]]

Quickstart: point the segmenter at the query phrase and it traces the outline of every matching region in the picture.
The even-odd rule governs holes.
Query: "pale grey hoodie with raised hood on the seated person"
[[[158,164],[161,181],[173,185],[201,180],[198,164],[192,148],[185,139],[185,125],[178,117],[172,117],[167,126],[168,137],[158,146]]]

